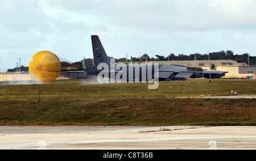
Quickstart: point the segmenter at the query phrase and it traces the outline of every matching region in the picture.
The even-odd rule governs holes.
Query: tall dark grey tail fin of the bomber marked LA
[[[109,57],[107,56],[105,49],[101,44],[101,40],[97,35],[92,35],[92,48],[94,66],[98,66],[98,64],[102,62],[110,65]]]

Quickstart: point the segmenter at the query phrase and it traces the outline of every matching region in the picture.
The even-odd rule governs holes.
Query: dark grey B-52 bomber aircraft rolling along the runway
[[[221,78],[227,71],[203,70],[198,67],[187,67],[184,65],[154,65],[138,63],[125,65],[117,64],[110,60],[97,35],[92,35],[92,49],[94,64],[86,66],[81,71],[69,71],[65,74],[68,78],[85,78],[86,75],[97,75],[102,78],[115,79],[119,82],[145,82],[145,81],[185,81],[187,78]]]

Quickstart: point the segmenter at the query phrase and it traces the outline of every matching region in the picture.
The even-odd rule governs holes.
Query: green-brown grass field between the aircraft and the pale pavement
[[[254,80],[188,79],[147,83],[0,85],[0,125],[256,125],[256,99],[182,96],[256,95]]]

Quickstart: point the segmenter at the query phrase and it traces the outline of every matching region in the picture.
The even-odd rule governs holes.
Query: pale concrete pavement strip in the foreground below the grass
[[[0,149],[256,149],[255,126],[0,126]]]

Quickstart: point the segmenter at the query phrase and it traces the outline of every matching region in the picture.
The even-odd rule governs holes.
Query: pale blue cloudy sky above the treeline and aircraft
[[[28,66],[48,50],[76,62],[93,58],[90,36],[108,56],[256,56],[256,0],[1,0],[0,70]],[[156,58],[156,57],[155,57]]]

